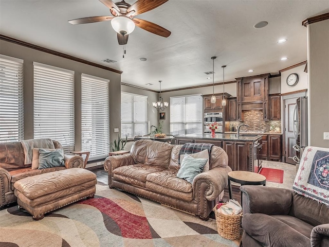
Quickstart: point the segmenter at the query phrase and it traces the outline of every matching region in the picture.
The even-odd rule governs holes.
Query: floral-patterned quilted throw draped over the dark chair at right
[[[329,148],[305,148],[293,191],[329,207]]]

